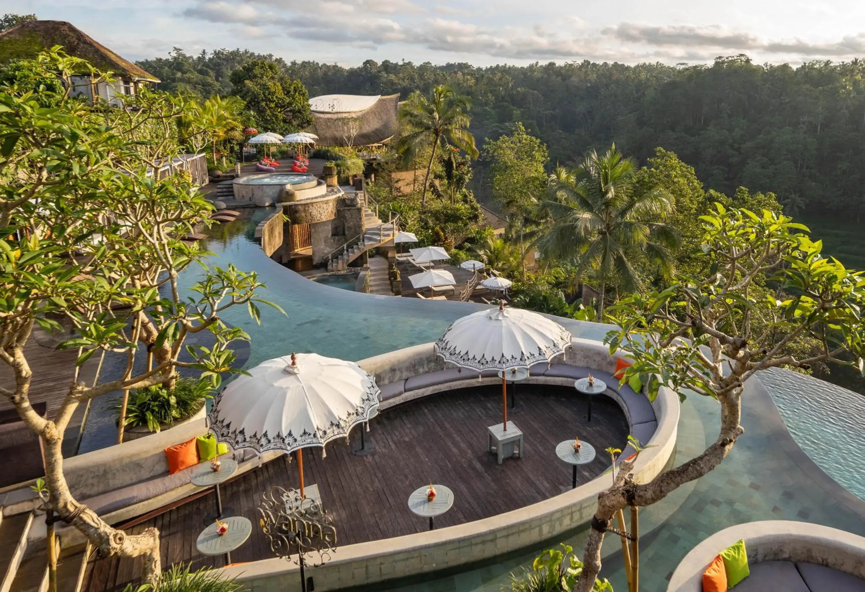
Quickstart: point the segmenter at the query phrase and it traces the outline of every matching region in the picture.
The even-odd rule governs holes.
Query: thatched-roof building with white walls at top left
[[[159,82],[156,76],[125,60],[65,21],[24,21],[0,33],[0,62],[35,58],[44,49],[60,45],[67,54],[89,61],[93,67],[110,72],[113,80],[91,80],[86,73],[72,77],[70,96],[94,97],[120,106],[123,97],[142,86]]]

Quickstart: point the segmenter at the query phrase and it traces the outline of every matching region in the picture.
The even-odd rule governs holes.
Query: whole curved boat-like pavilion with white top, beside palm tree
[[[387,142],[399,130],[400,95],[365,97],[329,94],[310,99],[311,130],[322,146],[368,146]]]

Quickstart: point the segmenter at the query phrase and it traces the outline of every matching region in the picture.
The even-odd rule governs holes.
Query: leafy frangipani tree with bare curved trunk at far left
[[[33,67],[68,85],[87,66],[52,50]],[[0,396],[42,442],[48,509],[103,555],[144,557],[144,580],[155,583],[157,530],[127,535],[74,499],[63,474],[63,433],[79,404],[170,383],[178,368],[194,368],[219,385],[221,373],[234,371],[231,342],[247,339],[221,321],[221,312],[246,305],[258,319],[262,284],[233,266],[209,268],[205,251],[179,239],[208,224],[212,210],[187,178],[152,174],[158,162],[151,142],[163,150],[158,158],[179,150],[176,138],[163,134],[174,130],[183,105],[145,94],[137,100],[146,117],[134,118],[138,127],[126,130],[133,115],[106,114],[63,94],[47,103],[39,99],[15,86],[0,88],[0,362],[15,376],[14,384],[0,385]],[[118,127],[106,125],[106,118]],[[144,126],[152,140],[129,139]],[[203,276],[189,296],[177,279],[192,264],[202,265]],[[35,329],[61,325],[74,336],[59,347],[79,355],[60,408],[42,417],[29,398],[33,370],[26,346]],[[211,334],[210,345],[184,348],[189,334],[202,332]],[[144,371],[134,364],[140,345],[155,357]],[[85,384],[80,366],[94,354],[125,356],[121,376]]]

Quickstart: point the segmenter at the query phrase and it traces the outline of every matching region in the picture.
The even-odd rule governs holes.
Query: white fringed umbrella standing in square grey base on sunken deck
[[[435,351],[445,362],[463,368],[510,370],[553,360],[571,346],[571,334],[559,323],[530,310],[481,310],[464,316],[447,328],[435,342]],[[508,391],[502,373],[504,430],[508,429]]]

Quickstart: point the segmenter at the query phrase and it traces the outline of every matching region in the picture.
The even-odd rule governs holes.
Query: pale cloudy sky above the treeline
[[[247,48],[285,60],[710,63],[865,57],[862,0],[0,0],[130,60]]]

